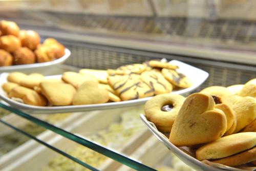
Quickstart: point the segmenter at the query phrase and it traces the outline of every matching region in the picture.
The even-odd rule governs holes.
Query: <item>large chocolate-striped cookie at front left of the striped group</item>
[[[122,100],[133,100],[154,95],[154,90],[142,82],[138,74],[109,76],[109,83]]]

